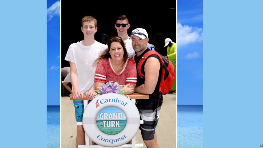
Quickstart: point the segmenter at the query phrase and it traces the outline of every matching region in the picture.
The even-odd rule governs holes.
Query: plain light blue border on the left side
[[[1,1],[1,147],[46,148],[47,2]]]

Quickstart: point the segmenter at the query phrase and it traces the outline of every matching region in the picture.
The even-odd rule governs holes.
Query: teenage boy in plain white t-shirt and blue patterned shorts
[[[70,65],[74,99],[83,98],[83,93],[86,93],[88,100],[96,95],[94,92],[96,67],[93,66],[93,63],[99,57],[100,52],[108,48],[106,45],[95,41],[94,34],[97,29],[97,20],[92,16],[85,16],[82,19],[81,26],[84,40],[71,44],[65,57]],[[82,122],[83,100],[74,100],[73,103],[76,121]],[[78,145],[85,145],[85,131],[82,125],[77,126],[76,148]]]

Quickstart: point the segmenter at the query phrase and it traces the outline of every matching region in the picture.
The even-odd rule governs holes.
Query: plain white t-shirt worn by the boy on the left
[[[97,41],[90,46],[84,46],[81,42],[69,46],[65,60],[75,63],[79,91],[85,93],[94,83],[96,67],[93,67],[93,63],[108,46]]]

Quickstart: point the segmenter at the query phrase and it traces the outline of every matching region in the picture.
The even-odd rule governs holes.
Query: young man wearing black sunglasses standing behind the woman
[[[131,40],[129,39],[128,36],[128,29],[130,28],[130,24],[127,16],[125,15],[119,16],[114,26],[117,29],[118,36],[121,37],[125,43],[125,48],[128,53],[128,57],[132,59],[135,55],[135,52],[133,50]]]

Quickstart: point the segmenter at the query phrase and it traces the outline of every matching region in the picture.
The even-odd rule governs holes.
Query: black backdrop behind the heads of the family
[[[97,19],[98,31],[95,33],[95,40],[102,43],[103,34],[107,34],[109,37],[117,36],[117,30],[114,27],[115,19],[124,14],[130,23],[129,36],[133,29],[144,28],[148,33],[149,43],[153,44],[160,54],[167,55],[167,47],[164,47],[165,38],[171,38],[173,42],[176,41],[176,2],[161,1],[151,4],[151,7],[149,4],[141,2],[130,5],[123,4],[123,2],[125,1],[114,1],[111,4],[102,1],[61,2],[62,67],[69,66],[69,62],[64,60],[69,45],[84,39],[81,32],[81,20],[84,16],[93,16]],[[109,5],[114,5],[114,7],[109,7]],[[161,36],[156,34],[161,34]]]

